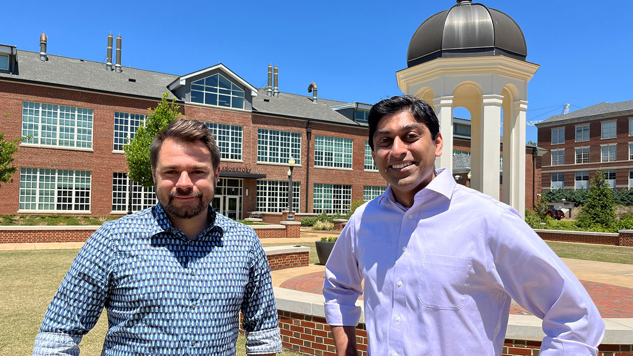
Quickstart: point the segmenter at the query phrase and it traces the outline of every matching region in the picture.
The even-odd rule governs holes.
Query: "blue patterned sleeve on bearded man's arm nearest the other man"
[[[254,232],[253,232],[254,234]],[[242,302],[242,327],[246,331],[246,353],[260,355],[282,351],[279,319],[270,267],[259,239],[250,251],[249,282]]]

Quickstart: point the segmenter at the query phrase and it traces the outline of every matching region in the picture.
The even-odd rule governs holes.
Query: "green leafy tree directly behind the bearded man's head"
[[[180,116],[180,106],[175,103],[175,99],[171,103],[168,102],[167,93],[163,94],[163,99],[154,110],[149,109],[146,122],[139,126],[134,138],[128,139],[127,144],[123,146],[127,168],[130,170],[128,177],[132,181],[146,188],[154,186],[149,146],[160,130]]]

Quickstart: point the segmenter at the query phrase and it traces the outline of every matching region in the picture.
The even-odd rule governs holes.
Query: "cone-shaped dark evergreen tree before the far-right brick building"
[[[582,207],[576,225],[587,229],[599,225],[605,229],[615,222],[615,201],[611,196],[611,188],[605,182],[605,175],[598,171],[589,182],[587,203]]]

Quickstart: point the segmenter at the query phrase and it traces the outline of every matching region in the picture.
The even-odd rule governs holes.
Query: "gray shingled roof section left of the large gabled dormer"
[[[48,61],[41,61],[39,53],[19,49],[17,59],[18,73],[0,73],[0,78],[160,99],[164,92],[169,92],[166,86],[179,77],[128,67],[116,73],[106,70],[105,63],[52,54],[48,54]],[[171,93],[169,97],[172,98]]]

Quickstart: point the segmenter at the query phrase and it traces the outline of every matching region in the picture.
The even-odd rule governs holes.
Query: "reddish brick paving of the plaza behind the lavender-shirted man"
[[[280,287],[321,294],[324,279],[325,272],[313,272],[287,279]],[[580,283],[587,289],[589,296],[591,296],[591,299],[596,303],[602,317],[633,317],[633,288],[583,280],[580,280]],[[363,296],[360,298],[362,299]],[[510,307],[510,314],[530,315],[527,310],[518,305],[512,305],[512,307]]]

